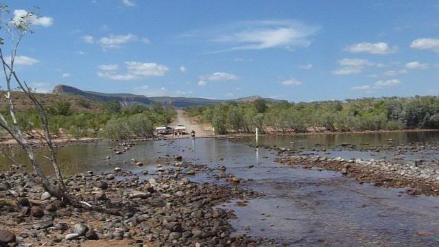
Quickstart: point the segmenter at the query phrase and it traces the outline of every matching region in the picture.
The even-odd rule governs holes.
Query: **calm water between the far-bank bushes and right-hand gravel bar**
[[[392,141],[389,141],[391,139]],[[255,143],[254,137],[242,137],[237,139],[242,143]],[[347,143],[348,146],[342,146]],[[416,150],[398,154],[395,150],[381,150],[371,152],[373,147],[383,145],[404,145],[407,143],[434,143],[439,145],[439,131],[420,132],[381,132],[381,133],[357,133],[357,134],[297,134],[297,135],[276,135],[259,137],[259,145],[270,147],[290,148],[302,153],[313,153],[331,158],[342,157],[345,159],[385,159],[388,161],[403,160],[414,161],[437,161],[439,163],[439,150]],[[352,148],[353,147],[353,148]],[[322,151],[324,150],[324,151]]]

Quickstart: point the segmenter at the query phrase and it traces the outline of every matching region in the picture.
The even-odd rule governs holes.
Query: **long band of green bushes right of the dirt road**
[[[381,97],[320,102],[228,102],[186,109],[228,132],[364,131],[439,128],[439,97]]]

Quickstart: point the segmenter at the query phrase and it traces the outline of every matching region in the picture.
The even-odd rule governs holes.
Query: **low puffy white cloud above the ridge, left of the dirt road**
[[[169,69],[165,65],[156,64],[154,62],[125,62],[127,73],[117,73],[119,66],[117,64],[99,65],[101,71],[97,72],[100,78],[108,78],[110,80],[139,80],[143,78],[163,76]]]

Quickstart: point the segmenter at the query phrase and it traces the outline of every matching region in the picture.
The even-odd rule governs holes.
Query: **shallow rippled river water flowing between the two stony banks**
[[[389,137],[386,133],[384,137],[371,138],[382,140],[374,144],[379,145],[389,138],[405,143],[434,142],[439,137],[425,133],[399,135],[401,133]],[[319,137],[316,143],[334,139],[328,141],[327,147],[337,151],[336,143],[370,142],[362,137],[350,137],[349,140],[345,139],[348,137],[341,140],[337,139],[341,137]],[[273,143],[281,146],[291,139],[296,143],[300,141],[297,137],[282,138]],[[314,145],[307,138],[301,141],[310,149]],[[235,234],[274,238],[289,246],[439,246],[438,198],[408,196],[403,193],[404,189],[359,185],[335,172],[287,167],[274,163],[276,154],[272,150],[255,150],[246,143],[219,139],[143,142],[122,155],[113,154],[115,148],[111,143],[73,145],[58,149],[58,156],[67,164],[64,169],[72,174],[89,169],[105,172],[121,167],[134,172],[148,169],[154,175],[156,164],[164,163],[174,154],[181,154],[185,161],[213,168],[224,165],[227,173],[243,178],[242,186],[266,195],[244,202],[246,207],[235,201],[222,205],[237,215],[236,220],[230,221],[236,229]],[[24,163],[19,152],[15,153]],[[145,165],[136,167],[130,162],[131,158]],[[0,162],[6,164],[5,160]],[[190,179],[226,183],[213,176],[219,173],[214,169],[213,174],[198,174]]]

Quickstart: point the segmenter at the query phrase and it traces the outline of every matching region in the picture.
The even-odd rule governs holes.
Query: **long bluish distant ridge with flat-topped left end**
[[[205,99],[200,97],[147,97],[144,95],[134,95],[130,93],[98,93],[92,91],[82,91],[73,86],[56,85],[53,94],[56,95],[76,95],[86,99],[100,100],[102,102],[110,102],[117,100],[121,104],[143,104],[152,105],[160,102],[164,106],[175,106],[178,108],[188,106],[200,106],[206,104],[218,104],[225,102],[254,102],[256,99],[262,99],[260,96],[241,97],[239,99]],[[282,102],[278,99],[266,98],[268,102]]]

